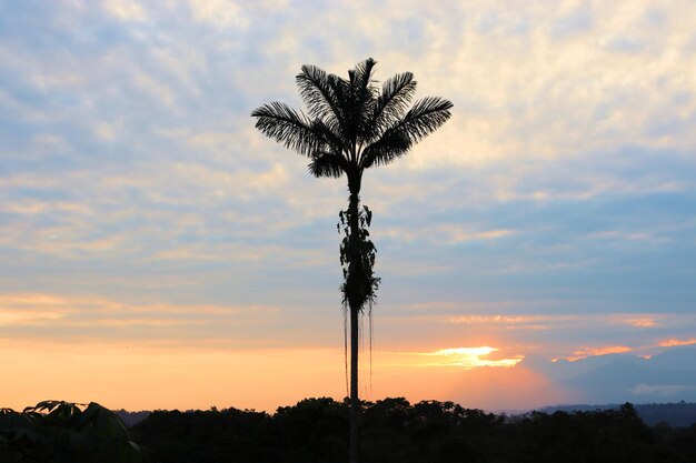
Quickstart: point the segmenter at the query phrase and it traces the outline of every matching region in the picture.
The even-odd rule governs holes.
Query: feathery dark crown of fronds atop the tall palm
[[[285,147],[310,158],[316,177],[348,177],[358,194],[362,171],[392,162],[450,117],[451,102],[428,97],[408,105],[414,74],[404,72],[379,88],[371,58],[348,71],[348,80],[302,66],[297,84],[308,114],[272,102],[255,110],[256,127]],[[357,183],[356,183],[357,182]]]

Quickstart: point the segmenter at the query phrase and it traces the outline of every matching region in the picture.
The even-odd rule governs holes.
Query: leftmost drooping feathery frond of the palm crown
[[[265,135],[304,155],[318,151],[325,141],[312,130],[310,121],[285,103],[264,104],[251,112],[256,128]]]

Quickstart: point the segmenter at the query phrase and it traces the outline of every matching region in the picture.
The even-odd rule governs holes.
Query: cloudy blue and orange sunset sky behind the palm
[[[0,406],[345,396],[346,181],[250,113],[368,57],[454,109],[364,177],[362,397],[549,405],[574,397],[521,359],[695,344],[694,23],[690,0],[0,2]]]

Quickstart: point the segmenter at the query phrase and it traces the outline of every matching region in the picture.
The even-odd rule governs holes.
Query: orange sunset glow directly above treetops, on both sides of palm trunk
[[[14,410],[50,399],[93,401],[112,410],[207,410],[215,405],[274,412],[305,397],[346,396],[342,349],[239,351],[6,340],[0,341],[0,350],[4,373],[0,406]],[[520,376],[513,371],[516,369],[500,368],[511,366],[504,360],[479,358],[494,351],[483,346],[425,355],[376,352],[371,371],[368,365],[360,370],[361,396],[370,401],[386,396],[412,402],[466,401],[467,406],[490,410],[496,409],[498,397],[500,404],[525,406],[524,401],[536,394],[534,384],[543,380],[531,382],[528,374]],[[444,361],[432,362],[434,358]],[[362,360],[367,361],[367,355]],[[528,396],[517,395],[518,389],[526,387],[520,381],[530,382]],[[496,394],[491,395],[490,389]]]

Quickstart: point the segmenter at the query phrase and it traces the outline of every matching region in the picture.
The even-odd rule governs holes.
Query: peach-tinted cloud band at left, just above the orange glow
[[[0,330],[6,339],[121,345],[271,346],[253,326],[270,326],[282,309],[261,305],[128,303],[100,296],[3,294]],[[245,335],[243,332],[248,334]]]

